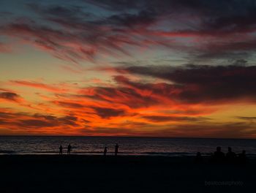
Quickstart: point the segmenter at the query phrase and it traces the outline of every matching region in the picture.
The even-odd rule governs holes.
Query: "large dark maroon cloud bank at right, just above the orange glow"
[[[121,83],[147,88],[181,102],[218,103],[243,98],[255,101],[256,96],[255,66],[124,67],[117,71],[170,80],[172,84],[163,83],[161,88],[157,84],[132,83],[118,77]]]

